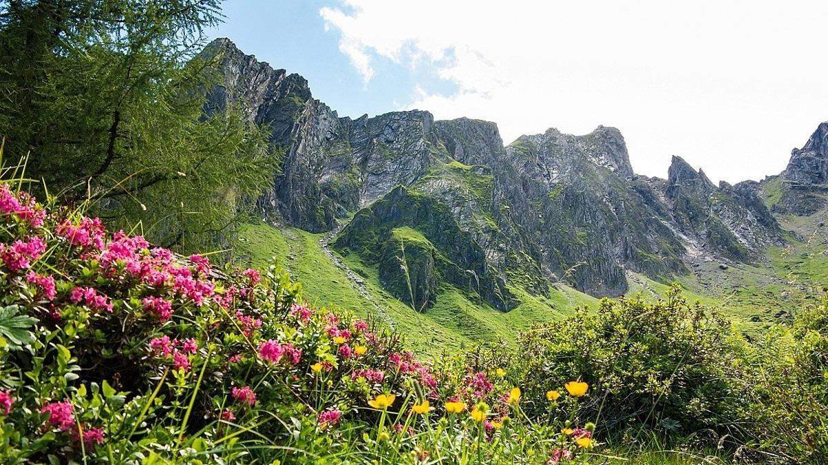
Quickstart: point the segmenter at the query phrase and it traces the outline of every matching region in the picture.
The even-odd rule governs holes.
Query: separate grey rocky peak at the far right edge
[[[828,122],[821,123],[801,149],[793,149],[779,181],[774,187],[780,189],[781,199],[774,211],[810,215],[828,205]]]

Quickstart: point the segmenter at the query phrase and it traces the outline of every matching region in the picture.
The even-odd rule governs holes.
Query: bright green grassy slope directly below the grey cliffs
[[[520,329],[560,319],[576,306],[596,301],[566,286],[552,287],[549,298],[529,295],[517,288],[513,291],[520,295],[522,303],[503,313],[443,285],[435,306],[418,313],[383,290],[378,271],[365,265],[356,254],[326,255],[320,244],[323,239],[325,234],[297,228],[248,224],[240,232],[235,260],[262,268],[275,257],[278,266],[301,282],[302,294],[311,304],[336,305],[369,319],[382,320],[402,333],[413,349],[431,354],[443,350],[457,352],[473,342],[511,344]],[[336,261],[342,266],[337,266]],[[353,274],[349,276],[345,268]]]

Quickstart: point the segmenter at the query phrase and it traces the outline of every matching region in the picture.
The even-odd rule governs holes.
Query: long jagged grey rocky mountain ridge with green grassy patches
[[[262,216],[310,232],[349,221],[336,249],[376,266],[415,309],[446,285],[504,311],[521,292],[546,295],[561,281],[620,295],[628,271],[663,281],[694,261],[760,261],[784,242],[763,200],[767,183],[716,186],[679,157],[667,179],[636,175],[613,127],[583,136],[551,128],[504,146],[493,122],[419,110],[339,117],[301,76],[227,39],[204,55],[220,74],[209,109],[243,108],[285,151],[259,199]],[[807,213],[802,196],[822,195],[826,128],[794,151],[774,211]]]

